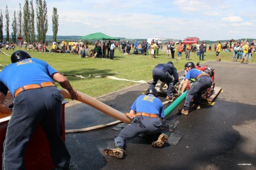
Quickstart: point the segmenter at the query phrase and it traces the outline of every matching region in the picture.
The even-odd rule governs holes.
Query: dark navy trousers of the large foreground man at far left
[[[38,125],[46,134],[56,169],[68,169],[70,154],[61,138],[62,100],[55,86],[25,90],[14,98],[3,143],[2,169],[25,169],[26,149]]]

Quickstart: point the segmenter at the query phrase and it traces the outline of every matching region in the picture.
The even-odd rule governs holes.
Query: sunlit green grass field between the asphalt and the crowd
[[[90,47],[90,49],[91,48],[92,47]],[[132,51],[133,49],[131,52]],[[13,53],[12,50],[3,50],[3,52],[9,55]],[[152,69],[159,63],[173,61],[177,70],[182,70],[184,64],[188,62],[188,60],[184,59],[185,53],[183,53],[182,59],[179,60],[178,63],[175,63],[177,55],[175,54],[175,59],[168,59],[165,49],[159,50],[159,55],[157,55],[155,59],[149,58],[149,55],[124,55],[120,53],[118,49],[115,50],[114,60],[106,58],[81,58],[80,55],[67,53],[38,53],[37,51],[29,51],[29,54],[33,58],[45,60],[57,71],[66,75],[82,75],[84,77],[88,77],[90,74],[93,76],[111,75],[116,78],[136,81],[152,80]],[[231,62],[232,55],[233,53],[231,52],[221,51],[221,61]],[[204,59],[204,61],[215,61],[216,56],[214,51],[207,51]],[[252,61],[254,62],[253,59]],[[196,53],[190,53],[189,61],[192,61],[195,64],[199,62]],[[10,56],[0,53],[0,64],[8,65],[10,63]],[[3,66],[0,66],[0,69],[2,70]],[[93,97],[109,94],[110,92],[138,84],[130,81],[112,80],[107,78],[81,79],[75,76],[67,76],[67,78],[76,90]],[[61,88],[60,85],[57,86],[58,88]]]

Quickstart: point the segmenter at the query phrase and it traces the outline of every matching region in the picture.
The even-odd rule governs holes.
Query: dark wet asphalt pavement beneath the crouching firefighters
[[[176,145],[151,147],[151,138],[127,141],[123,159],[104,156],[114,147],[119,131],[111,126],[88,132],[66,133],[66,145],[74,169],[256,169],[256,64],[209,61],[215,69],[215,86],[222,91],[214,105],[201,104],[188,116],[171,112],[165,123],[171,135],[181,137]],[[180,71],[180,75],[184,71]],[[118,81],[118,80],[117,80]],[[98,100],[123,113],[148,84],[136,85]],[[160,97],[165,101],[164,97]],[[167,105],[168,106],[168,105]],[[165,106],[165,107],[167,107]],[[182,104],[178,107],[182,107]],[[65,110],[66,129],[104,125],[116,121],[86,104]],[[170,133],[169,133],[170,135]]]

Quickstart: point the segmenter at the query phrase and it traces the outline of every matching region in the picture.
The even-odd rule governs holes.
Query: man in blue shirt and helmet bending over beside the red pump
[[[184,69],[187,73],[185,75],[184,84],[181,88],[181,93],[186,90],[189,80],[193,81],[193,84],[186,93],[184,109],[181,110],[181,114],[188,115],[192,98],[195,96],[195,104],[192,107],[194,107],[194,109],[200,109],[202,92],[213,84],[213,80],[209,74],[204,73],[202,70],[195,69],[195,64],[193,62],[186,63]]]

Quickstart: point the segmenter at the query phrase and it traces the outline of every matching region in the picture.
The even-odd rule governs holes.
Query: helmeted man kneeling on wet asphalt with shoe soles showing
[[[123,158],[125,153],[125,141],[136,137],[140,133],[154,135],[159,133],[164,119],[164,106],[157,98],[158,92],[154,87],[149,87],[146,95],[140,95],[131,106],[126,116],[132,120],[119,135],[115,136],[115,147],[107,148],[104,154],[111,157]],[[152,142],[152,147],[161,148],[168,141],[168,135],[161,133],[157,141]]]

